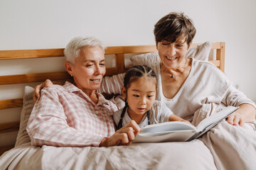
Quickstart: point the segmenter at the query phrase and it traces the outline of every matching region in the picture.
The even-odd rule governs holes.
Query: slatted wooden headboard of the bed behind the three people
[[[192,47],[200,45],[201,43],[194,43]],[[215,64],[220,70],[224,72],[224,62],[225,62],[225,42],[213,42],[212,50],[215,50],[215,59],[210,60]],[[0,60],[26,60],[31,58],[42,58],[42,57],[63,57],[63,48],[58,49],[43,49],[43,50],[2,50],[0,51]],[[146,52],[156,51],[155,45],[136,45],[136,46],[117,46],[117,47],[107,47],[105,55],[115,56],[115,67],[107,68],[106,75],[113,75],[125,72],[128,67],[124,64],[124,55],[126,54],[138,54]],[[106,56],[107,60],[107,56]],[[22,64],[22,62],[20,63]],[[67,72],[43,72],[43,73],[29,73],[29,74],[15,74],[15,75],[1,75],[0,76],[0,88],[2,85],[9,84],[28,84],[31,82],[45,81],[46,79],[55,81],[65,81],[70,79]],[[0,110],[11,109],[22,107],[22,98],[9,98],[0,100]],[[1,114],[1,113],[0,113]],[[18,113],[20,114],[20,113]],[[18,131],[19,122],[11,121],[5,122],[1,120],[0,122],[0,135],[4,133]],[[9,143],[9,145],[0,145],[0,155],[6,150],[14,147],[14,142]]]

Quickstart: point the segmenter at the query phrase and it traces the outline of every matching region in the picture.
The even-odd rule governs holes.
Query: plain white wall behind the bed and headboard
[[[151,45],[154,23],[171,11],[193,18],[193,42],[226,42],[225,73],[256,101],[255,0],[0,0],[0,50],[65,47],[77,35],[108,46]],[[21,74],[16,65],[11,72]]]

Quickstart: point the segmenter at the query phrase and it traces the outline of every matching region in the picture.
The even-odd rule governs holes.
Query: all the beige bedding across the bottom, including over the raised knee
[[[215,109],[207,104],[196,125]],[[256,169],[256,121],[245,128],[225,120],[199,140],[122,147],[34,147],[24,142],[0,157],[0,169]]]

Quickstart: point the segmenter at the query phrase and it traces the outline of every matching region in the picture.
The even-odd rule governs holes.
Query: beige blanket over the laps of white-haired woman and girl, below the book
[[[216,169],[201,140],[119,147],[20,145],[2,155],[1,169]]]

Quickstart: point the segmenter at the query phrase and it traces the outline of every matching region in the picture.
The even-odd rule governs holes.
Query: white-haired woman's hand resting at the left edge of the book
[[[132,120],[123,128],[117,130],[111,137],[103,139],[100,142],[100,147],[129,145],[135,139],[137,133],[141,131],[142,129],[139,128],[139,125]]]

